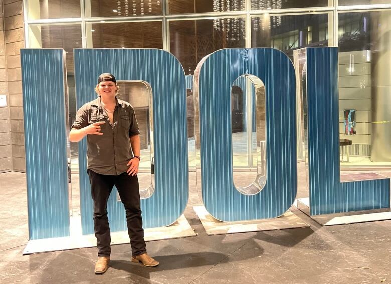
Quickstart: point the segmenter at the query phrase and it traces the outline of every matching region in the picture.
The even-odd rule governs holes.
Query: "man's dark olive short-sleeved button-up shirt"
[[[87,168],[106,175],[126,172],[126,164],[133,157],[129,137],[140,133],[133,106],[116,98],[112,125],[98,97],[77,111],[72,128],[81,129],[98,121],[106,123],[100,125],[103,135],[87,135]]]

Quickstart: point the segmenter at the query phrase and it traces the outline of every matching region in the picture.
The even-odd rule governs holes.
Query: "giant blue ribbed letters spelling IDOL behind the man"
[[[340,182],[337,48],[300,52],[307,70],[311,214],[390,207],[388,178]],[[74,53],[78,108],[96,97],[96,78],[103,72],[115,74],[118,81],[144,81],[152,89],[153,194],[142,200],[141,207],[144,227],[170,225],[183,213],[189,189],[186,87],[181,64],[172,54],[158,49],[75,49]],[[68,236],[66,129],[64,117],[59,117],[63,115],[59,109],[66,107],[63,50],[24,49],[21,56],[30,239]],[[259,189],[253,195],[243,194],[233,182],[231,87],[242,75],[259,78],[266,91],[266,182],[261,184],[256,178],[249,186]],[[196,144],[200,146],[197,186],[207,211],[216,219],[274,218],[292,205],[297,193],[298,75],[283,52],[270,48],[222,49],[199,63],[194,74]],[[34,87],[37,85],[40,89]],[[43,113],[49,121],[43,119]],[[46,124],[36,127],[36,123]],[[61,133],[47,131],[47,127]],[[86,144],[81,142],[82,233],[91,234],[93,210],[85,154]],[[124,209],[115,192],[108,211],[112,231],[125,230]]]

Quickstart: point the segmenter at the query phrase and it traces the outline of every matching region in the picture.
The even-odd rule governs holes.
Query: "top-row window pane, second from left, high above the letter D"
[[[163,0],[91,0],[86,17],[132,17],[161,15]]]

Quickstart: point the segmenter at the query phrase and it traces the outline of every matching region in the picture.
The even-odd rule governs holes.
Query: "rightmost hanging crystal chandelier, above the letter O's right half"
[[[252,10],[275,10],[281,9],[281,0],[251,0]],[[251,24],[254,31],[258,31],[261,19],[259,17],[252,17]],[[268,28],[277,27],[281,25],[281,16],[271,16],[268,22]],[[261,26],[265,30],[265,24]]]

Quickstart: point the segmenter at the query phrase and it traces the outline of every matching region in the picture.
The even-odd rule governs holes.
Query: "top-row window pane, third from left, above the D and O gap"
[[[244,11],[245,0],[168,0],[170,14]]]

